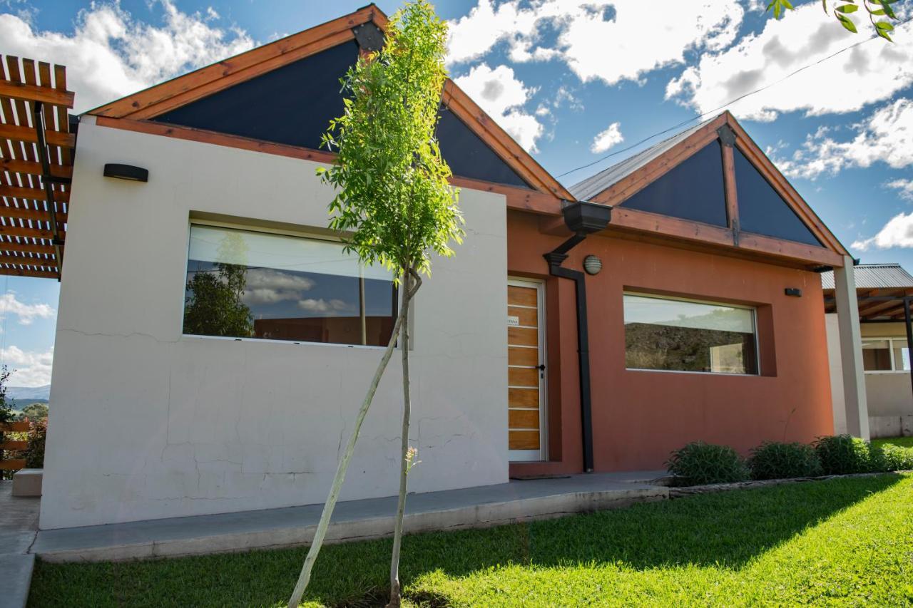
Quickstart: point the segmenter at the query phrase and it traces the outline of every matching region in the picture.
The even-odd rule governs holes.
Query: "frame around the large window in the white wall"
[[[379,346],[373,344],[341,344],[339,342],[311,342],[304,340],[270,340],[268,338],[236,338],[232,336],[206,336],[198,333],[184,333],[184,314],[186,313],[186,286],[187,286],[187,270],[190,268],[190,233],[191,228],[194,225],[204,225],[212,226],[214,228],[226,228],[226,230],[242,230],[245,232],[259,232],[265,233],[268,235],[277,235],[277,236],[289,236],[291,238],[307,238],[313,241],[328,241],[330,243],[339,243],[344,244],[341,236],[325,234],[321,232],[310,232],[307,228],[302,228],[301,230],[292,230],[285,228],[271,228],[267,226],[260,225],[249,225],[236,222],[225,222],[221,220],[212,220],[212,219],[203,219],[197,218],[191,215],[187,221],[187,234],[186,234],[186,252],[184,253],[184,276],[183,276],[183,291],[181,293],[181,340],[221,340],[221,341],[231,341],[231,342],[261,342],[266,344],[277,344],[277,345],[288,345],[288,346],[327,346],[332,348],[343,348],[343,349],[367,349],[372,351],[383,351],[386,350],[386,346]],[[396,289],[396,306],[397,313],[399,312],[399,307],[403,306],[403,290],[400,288]],[[412,320],[415,315],[412,314],[412,309],[410,309],[409,320],[410,320],[410,335],[409,335],[409,350],[411,351],[414,347],[412,342],[415,340],[412,335]]]

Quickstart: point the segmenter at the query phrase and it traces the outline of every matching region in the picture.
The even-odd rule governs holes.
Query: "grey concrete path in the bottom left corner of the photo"
[[[13,496],[13,482],[0,481],[0,608],[23,608],[35,556],[28,550],[38,529],[40,498]]]

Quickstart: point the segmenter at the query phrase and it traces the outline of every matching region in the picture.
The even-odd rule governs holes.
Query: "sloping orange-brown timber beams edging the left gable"
[[[226,58],[213,65],[89,110],[87,113],[105,119],[105,121],[100,121],[100,124],[108,126],[115,126],[108,121],[109,119],[125,121],[121,126],[129,124],[127,121],[144,123],[155,121],[164,114],[183,108],[196,100],[202,100],[219,91],[257,78],[272,70],[289,66],[300,59],[309,58],[332,47],[356,41],[362,46],[363,52],[371,44],[377,42],[376,37],[371,37],[371,27],[376,26],[383,30],[387,26],[387,22],[387,16],[376,5],[367,5],[350,15],[341,16],[320,26],[311,27],[235,57]],[[377,29],[373,31],[376,32]],[[366,47],[365,44],[369,46]],[[546,172],[530,156],[529,152],[514,142],[506,131],[501,129],[450,79],[446,81],[441,100],[446,109],[465,123],[467,128],[484,142],[501,161],[509,165],[511,170],[535,190],[550,195],[553,198],[550,205],[554,206],[556,211],[561,199],[571,200],[573,198],[572,194]],[[264,108],[263,111],[266,112],[268,109]],[[156,131],[149,124],[134,126],[137,130],[146,132],[162,132]],[[188,133],[185,132],[184,136],[190,139]],[[249,138],[247,139],[249,140]],[[215,140],[210,138],[210,141]],[[226,142],[225,138],[220,141]],[[320,154],[326,158],[325,152],[320,152]],[[497,190],[497,188],[498,186],[495,184],[491,189]],[[528,200],[527,204],[530,205],[530,208],[535,205],[542,206],[542,202],[538,200],[534,203],[530,203]]]

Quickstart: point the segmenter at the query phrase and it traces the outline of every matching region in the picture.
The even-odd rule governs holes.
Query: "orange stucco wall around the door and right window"
[[[573,282],[548,277],[542,254],[564,240],[540,233],[536,216],[511,212],[508,268],[546,279],[549,463],[514,464],[514,474],[582,470]],[[564,266],[596,255],[586,278],[597,471],[656,469],[689,441],[725,444],[747,455],[764,440],[811,441],[832,432],[821,280],[816,273],[761,262],[589,236]],[[801,288],[801,298],[784,288]],[[758,307],[760,376],[629,371],[624,367],[625,289]]]

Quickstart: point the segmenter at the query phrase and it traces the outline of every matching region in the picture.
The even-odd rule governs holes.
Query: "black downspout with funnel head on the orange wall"
[[[545,254],[552,277],[570,278],[574,282],[577,301],[577,360],[580,374],[580,414],[583,440],[583,470],[593,472],[593,404],[590,391],[590,334],[586,314],[586,275],[580,270],[561,267],[568,252],[590,233],[602,230],[609,223],[611,207],[604,204],[577,202],[562,209],[564,223],[574,235],[553,251]]]

